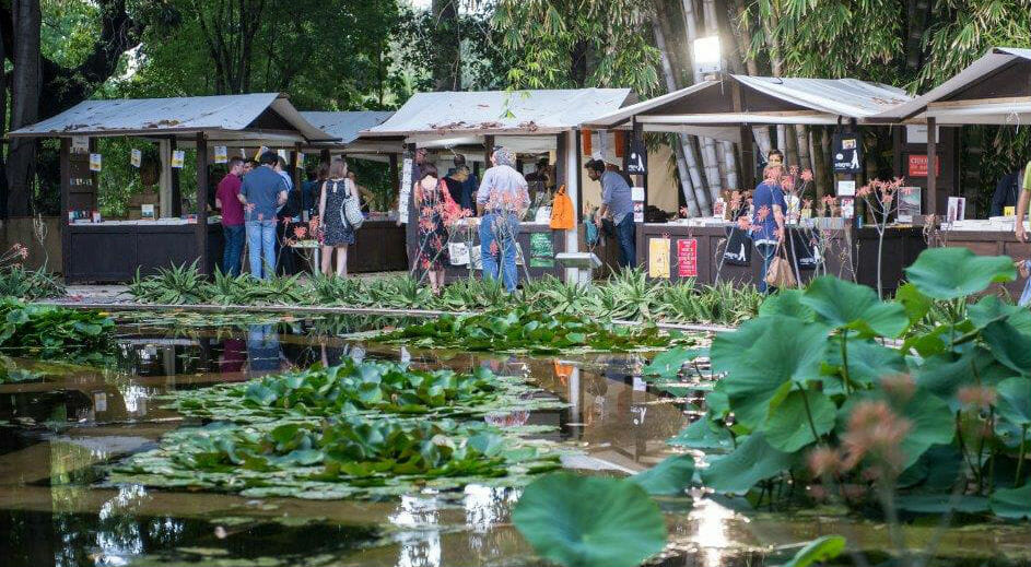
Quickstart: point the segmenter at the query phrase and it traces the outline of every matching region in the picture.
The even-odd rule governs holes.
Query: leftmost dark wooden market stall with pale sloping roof
[[[221,259],[222,229],[204,205],[210,201],[208,165],[225,155],[214,155],[215,149],[332,140],[277,93],[85,101],[9,135],[61,140],[61,252],[69,283],[127,282],[138,272],[195,261],[212,273]],[[97,172],[105,160],[131,158],[95,153],[96,139],[109,137],[159,144],[162,190],[153,217],[99,218]],[[181,210],[178,170],[185,147],[197,154],[194,214]]]

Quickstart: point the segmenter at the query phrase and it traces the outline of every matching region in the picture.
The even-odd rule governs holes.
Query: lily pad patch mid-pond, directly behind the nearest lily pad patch
[[[413,370],[406,364],[347,358],[340,366],[269,376],[174,394],[183,414],[241,423],[342,415],[483,416],[561,407],[522,378],[485,368],[472,374]]]

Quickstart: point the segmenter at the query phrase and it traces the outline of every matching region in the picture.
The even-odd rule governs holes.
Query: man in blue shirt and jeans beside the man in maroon
[[[286,181],[273,167],[276,152],[261,154],[261,166],[244,177],[239,202],[250,248],[250,275],[271,279],[276,269],[276,211],[286,202]]]

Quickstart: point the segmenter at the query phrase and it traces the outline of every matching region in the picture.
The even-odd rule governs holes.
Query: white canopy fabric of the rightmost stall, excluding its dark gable
[[[1031,49],[994,47],[958,74],[927,93],[869,118],[871,122],[924,122],[935,117],[940,126],[959,125],[1031,125],[1031,99],[999,98],[998,102],[971,101],[950,107],[936,103],[983,81],[1014,62],[1031,60]],[[1015,75],[1014,81],[1028,81]]]

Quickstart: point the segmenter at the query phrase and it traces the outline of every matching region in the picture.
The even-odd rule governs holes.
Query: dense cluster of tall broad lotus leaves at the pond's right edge
[[[847,485],[847,504],[865,494],[889,512],[895,488],[945,501],[953,487],[977,498],[1021,486],[1031,314],[987,296],[930,328],[915,326],[932,297],[956,300],[1014,277],[1008,259],[960,256],[924,251],[905,293],[890,302],[819,277],[718,334],[712,365],[725,376],[706,395],[703,420],[675,438],[698,449],[731,441],[730,452],[708,457],[703,483],[726,493],[762,487],[772,498],[771,483],[789,475],[827,493]],[[691,357],[681,353],[680,363]],[[658,373],[679,366],[665,361]],[[1009,473],[999,477],[1001,470]]]

